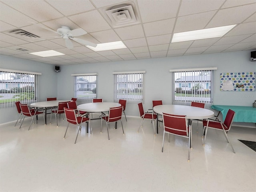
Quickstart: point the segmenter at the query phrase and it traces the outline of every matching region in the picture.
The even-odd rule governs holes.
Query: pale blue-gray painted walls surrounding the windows
[[[58,99],[74,97],[74,77],[71,74],[98,73],[97,97],[106,102],[114,100],[114,77],[112,72],[145,70],[144,76],[144,110],[152,108],[152,100],[162,100],[164,104],[172,104],[172,78],[170,69],[217,67],[215,71],[214,104],[252,106],[256,100],[256,92],[220,91],[221,72],[255,72],[256,62],[250,61],[250,50],[226,52],[218,54],[202,54],[177,56],[168,58],[154,58],[141,60],[127,60],[104,63],[90,63],[60,66],[60,72],[54,72],[54,66],[17,58],[6,59],[15,64],[11,69],[42,72],[40,78],[40,100],[48,96],[55,96],[57,88]],[[14,61],[15,60],[15,61]],[[28,65],[28,66],[27,66]],[[20,66],[20,68],[17,68]],[[33,66],[33,68],[31,68]],[[9,65],[1,68],[10,68]],[[46,74],[49,74],[49,77]],[[56,78],[57,77],[57,78]],[[50,86],[48,88],[48,86]],[[48,89],[47,94],[45,91]],[[54,94],[51,94],[54,93]],[[79,103],[78,103],[79,104]],[[0,110],[0,115],[2,110]],[[15,114],[15,113],[14,113]],[[128,103],[126,116],[139,116],[137,104]],[[0,123],[15,120],[0,120]],[[254,125],[254,124],[250,124]]]

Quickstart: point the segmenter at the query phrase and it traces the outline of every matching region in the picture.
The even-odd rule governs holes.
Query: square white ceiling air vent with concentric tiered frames
[[[133,1],[102,8],[101,12],[113,28],[140,23],[138,9]]]

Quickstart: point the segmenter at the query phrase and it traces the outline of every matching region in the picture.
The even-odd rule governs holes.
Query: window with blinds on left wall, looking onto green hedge
[[[40,74],[0,69],[0,106],[14,106],[16,101],[25,104],[37,102]]]

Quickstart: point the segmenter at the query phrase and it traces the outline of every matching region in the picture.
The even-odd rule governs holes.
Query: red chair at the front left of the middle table
[[[90,123],[90,118],[86,118],[86,117],[82,117],[82,116],[76,116],[76,110],[68,109],[66,107],[64,107],[64,113],[65,113],[65,116],[66,116],[66,120],[68,122],[68,126],[69,126],[70,123],[79,126],[78,132],[76,134],[76,140],[77,140],[79,130],[81,131],[82,122],[89,122]],[[64,135],[64,139],[66,138],[66,133],[67,133],[67,130],[68,130],[68,126],[67,126],[67,129],[66,129],[65,135]],[[91,128],[91,134],[92,134],[92,128]],[[76,140],[75,140],[75,144],[76,144]]]

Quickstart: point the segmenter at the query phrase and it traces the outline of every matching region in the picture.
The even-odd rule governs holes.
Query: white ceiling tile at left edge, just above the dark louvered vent
[[[12,1],[7,2],[11,3]],[[17,10],[14,10],[13,8],[10,8],[2,2],[0,2],[0,18],[2,21],[16,27],[29,25],[28,22],[36,22],[36,20],[29,18],[28,16],[18,12]]]

